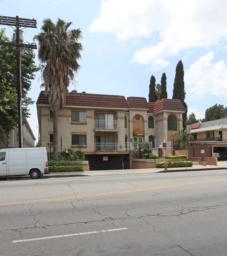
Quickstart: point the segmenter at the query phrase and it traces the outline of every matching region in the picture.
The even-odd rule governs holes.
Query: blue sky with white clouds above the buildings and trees
[[[182,60],[188,114],[197,119],[215,103],[227,105],[226,13],[226,0],[0,0],[0,15],[37,20],[37,29],[24,29],[24,42],[32,42],[45,18],[72,21],[72,29],[82,30],[81,69],[69,91],[148,101],[151,75],[160,83],[165,72],[171,99]],[[6,27],[6,35],[12,33]],[[37,73],[29,92],[35,101],[41,83]],[[36,111],[30,106],[28,122],[38,139]]]

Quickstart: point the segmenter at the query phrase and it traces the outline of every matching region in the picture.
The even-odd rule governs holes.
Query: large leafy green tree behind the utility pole
[[[5,35],[5,28],[0,30],[0,41],[14,42]],[[22,116],[29,117],[30,104],[34,101],[28,97],[31,80],[35,79],[35,54],[31,49],[21,50],[21,89]],[[17,113],[17,75],[16,75],[16,47],[0,46],[0,141],[9,139],[11,130],[18,126]]]

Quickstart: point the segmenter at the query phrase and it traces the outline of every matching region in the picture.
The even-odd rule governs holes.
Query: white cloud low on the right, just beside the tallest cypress
[[[223,60],[213,63],[213,52],[202,56],[184,74],[186,91],[190,98],[199,99],[205,94],[227,98],[227,67]]]

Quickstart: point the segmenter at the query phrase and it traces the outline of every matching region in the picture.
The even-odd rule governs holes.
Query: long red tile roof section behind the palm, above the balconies
[[[48,96],[45,96],[44,91],[40,92],[36,103],[49,104]],[[66,105],[106,108],[129,108],[124,96],[74,92],[70,92],[66,97]]]

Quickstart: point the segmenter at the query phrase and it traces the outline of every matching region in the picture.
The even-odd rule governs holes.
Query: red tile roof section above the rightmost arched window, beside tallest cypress
[[[161,99],[159,101],[154,102],[153,113],[158,112],[160,110],[177,110],[184,111],[185,108],[180,100],[176,99]]]

